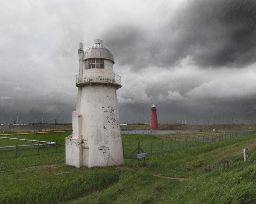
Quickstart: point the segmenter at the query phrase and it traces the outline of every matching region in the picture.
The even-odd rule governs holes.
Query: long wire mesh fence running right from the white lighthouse
[[[184,150],[191,147],[200,147],[202,145],[214,142],[220,142],[223,140],[243,137],[246,135],[255,134],[256,131],[245,131],[239,133],[230,133],[224,135],[209,135],[199,137],[180,137],[170,140],[162,140],[160,142],[152,141],[151,143],[140,142],[140,148],[147,152],[148,155],[160,155],[166,153],[175,153],[180,150]],[[138,147],[138,144],[126,144],[123,143],[124,158],[136,159],[136,153],[134,150]],[[133,154],[134,153],[134,154]]]

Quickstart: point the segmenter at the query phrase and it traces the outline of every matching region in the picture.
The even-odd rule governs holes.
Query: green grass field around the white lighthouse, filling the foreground
[[[125,159],[124,166],[80,168],[65,165],[70,133],[16,135],[53,141],[55,148],[0,150],[0,203],[255,203],[256,151],[204,174],[204,167],[256,146],[256,134],[188,148],[177,153]],[[158,143],[152,135],[122,135],[124,144]],[[154,144],[153,143],[153,144]],[[2,141],[0,140],[0,146]]]

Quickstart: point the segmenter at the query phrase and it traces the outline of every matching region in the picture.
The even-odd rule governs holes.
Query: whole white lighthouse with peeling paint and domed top
[[[114,58],[102,40],[84,52],[78,49],[79,75],[73,134],[66,137],[66,164],[80,167],[124,163],[116,90],[121,77],[113,71]]]

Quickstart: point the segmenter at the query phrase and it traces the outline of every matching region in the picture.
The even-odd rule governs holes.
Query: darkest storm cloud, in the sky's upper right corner
[[[256,1],[197,0],[188,7],[184,31],[194,37],[198,65],[239,67],[256,60]]]

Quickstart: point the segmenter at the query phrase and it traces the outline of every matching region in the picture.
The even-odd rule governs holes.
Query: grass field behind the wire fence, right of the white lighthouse
[[[159,155],[175,153],[190,147],[199,147],[207,143],[243,137],[252,133],[255,133],[255,131],[221,131],[218,133],[209,132],[207,134],[202,132],[159,135],[122,134],[124,157],[136,158],[138,151],[135,150],[138,147],[138,141],[140,141],[141,150],[150,155]],[[190,149],[190,151],[194,151],[194,148]],[[142,153],[142,151],[140,151],[140,153]]]

